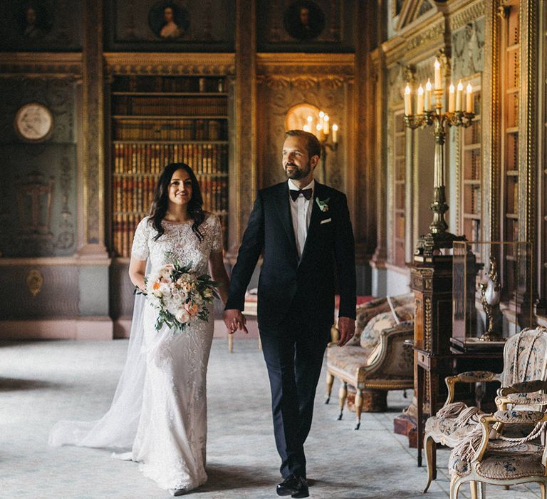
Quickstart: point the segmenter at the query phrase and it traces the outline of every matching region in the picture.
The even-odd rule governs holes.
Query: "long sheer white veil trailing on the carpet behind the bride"
[[[147,272],[150,261],[147,262]],[[127,358],[110,408],[98,421],[58,421],[49,433],[49,445],[115,448],[130,451],[140,418],[146,361],[143,314],[145,296],[135,295]]]

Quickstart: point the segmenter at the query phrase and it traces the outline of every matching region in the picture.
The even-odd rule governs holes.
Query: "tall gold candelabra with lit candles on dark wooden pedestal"
[[[472,103],[472,88],[467,86],[466,110],[462,110],[463,86],[460,81],[457,93],[454,86],[449,87],[449,106],[442,111],[444,90],[441,86],[440,63],[435,61],[435,88],[428,80],[425,90],[420,85],[417,91],[417,112],[412,113],[412,92],[410,84],[405,88],[405,125],[412,130],[433,126],[435,137],[434,151],[434,180],[433,201],[429,205],[433,212],[433,220],[429,225],[429,232],[418,240],[416,256],[433,257],[440,253],[442,248],[451,248],[454,241],[464,241],[465,236],[457,236],[447,232],[448,224],[444,220],[444,213],[448,210],[444,187],[444,142],[447,135],[447,126],[461,126],[467,128],[472,124],[474,113]],[[432,93],[435,96],[434,109],[431,107]]]

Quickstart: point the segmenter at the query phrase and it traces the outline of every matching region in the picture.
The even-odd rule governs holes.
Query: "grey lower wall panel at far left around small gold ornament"
[[[36,271],[42,282],[35,295],[35,284],[29,279],[29,273]],[[77,317],[79,314],[78,267],[2,266],[0,281],[11,284],[0,287],[0,317],[4,320]]]

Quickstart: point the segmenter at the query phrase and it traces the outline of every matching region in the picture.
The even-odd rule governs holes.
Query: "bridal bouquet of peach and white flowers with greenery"
[[[148,275],[145,284],[147,300],[160,311],[155,324],[157,331],[163,324],[183,331],[192,321],[209,320],[205,304],[219,297],[217,283],[207,274],[197,275],[192,270],[192,263],[166,264],[155,274]]]

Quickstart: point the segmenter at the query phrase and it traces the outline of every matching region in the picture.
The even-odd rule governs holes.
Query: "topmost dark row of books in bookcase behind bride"
[[[115,76],[114,92],[219,92],[226,91],[226,79],[216,76]]]

